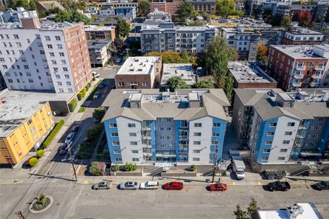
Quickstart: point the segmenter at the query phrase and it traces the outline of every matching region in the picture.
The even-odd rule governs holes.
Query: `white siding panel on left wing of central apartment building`
[[[136,124],[135,128],[128,127],[128,123]],[[132,162],[141,164],[143,162],[143,150],[141,141],[141,123],[130,118],[118,117],[117,128],[119,133],[119,141],[121,147],[121,157],[123,163]],[[130,132],[137,133],[136,137],[130,136]],[[131,145],[130,142],[137,142],[137,145]],[[132,150],[138,150],[138,153],[132,153]],[[139,162],[133,162],[132,158],[139,158]]]

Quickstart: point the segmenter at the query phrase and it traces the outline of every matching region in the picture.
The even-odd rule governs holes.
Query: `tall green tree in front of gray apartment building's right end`
[[[222,83],[228,73],[228,61],[233,60],[235,56],[236,51],[226,44],[223,37],[212,38],[205,55],[205,67],[207,73],[215,78],[218,88],[223,88]]]

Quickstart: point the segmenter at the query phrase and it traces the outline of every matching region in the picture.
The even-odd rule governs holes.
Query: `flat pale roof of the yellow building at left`
[[[8,136],[47,101],[3,101],[0,104],[0,137]]]

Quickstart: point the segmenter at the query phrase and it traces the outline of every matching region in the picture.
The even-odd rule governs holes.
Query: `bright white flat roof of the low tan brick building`
[[[128,57],[117,75],[150,75],[156,62],[161,62],[161,58],[158,56]]]

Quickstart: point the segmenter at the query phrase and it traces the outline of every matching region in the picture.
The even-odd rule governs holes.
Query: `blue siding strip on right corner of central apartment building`
[[[212,123],[219,123],[219,127],[212,127],[212,133],[219,133],[219,136],[211,136],[211,141],[218,141],[217,162],[221,161],[223,155],[224,136],[226,131],[226,121],[219,118],[212,118]],[[210,149],[216,150],[216,145],[210,145]],[[210,158],[215,158],[215,153],[210,153]],[[210,164],[213,162],[209,162]]]

